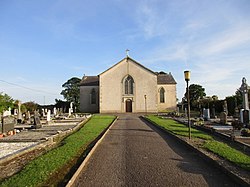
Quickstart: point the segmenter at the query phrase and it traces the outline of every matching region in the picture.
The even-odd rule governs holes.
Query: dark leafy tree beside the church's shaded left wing
[[[61,95],[63,95],[64,99],[68,102],[73,102],[77,111],[79,110],[80,106],[80,88],[79,83],[81,79],[77,77],[73,77],[65,82],[62,87],[65,88]]]

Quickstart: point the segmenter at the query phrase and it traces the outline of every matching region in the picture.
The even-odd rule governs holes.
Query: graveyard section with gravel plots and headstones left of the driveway
[[[72,106],[72,105],[71,105]],[[21,108],[19,103],[18,108]],[[72,111],[72,108],[69,107]],[[77,131],[90,114],[42,109],[20,114],[9,109],[0,117],[0,180],[16,173],[30,160],[44,154],[62,139]]]

